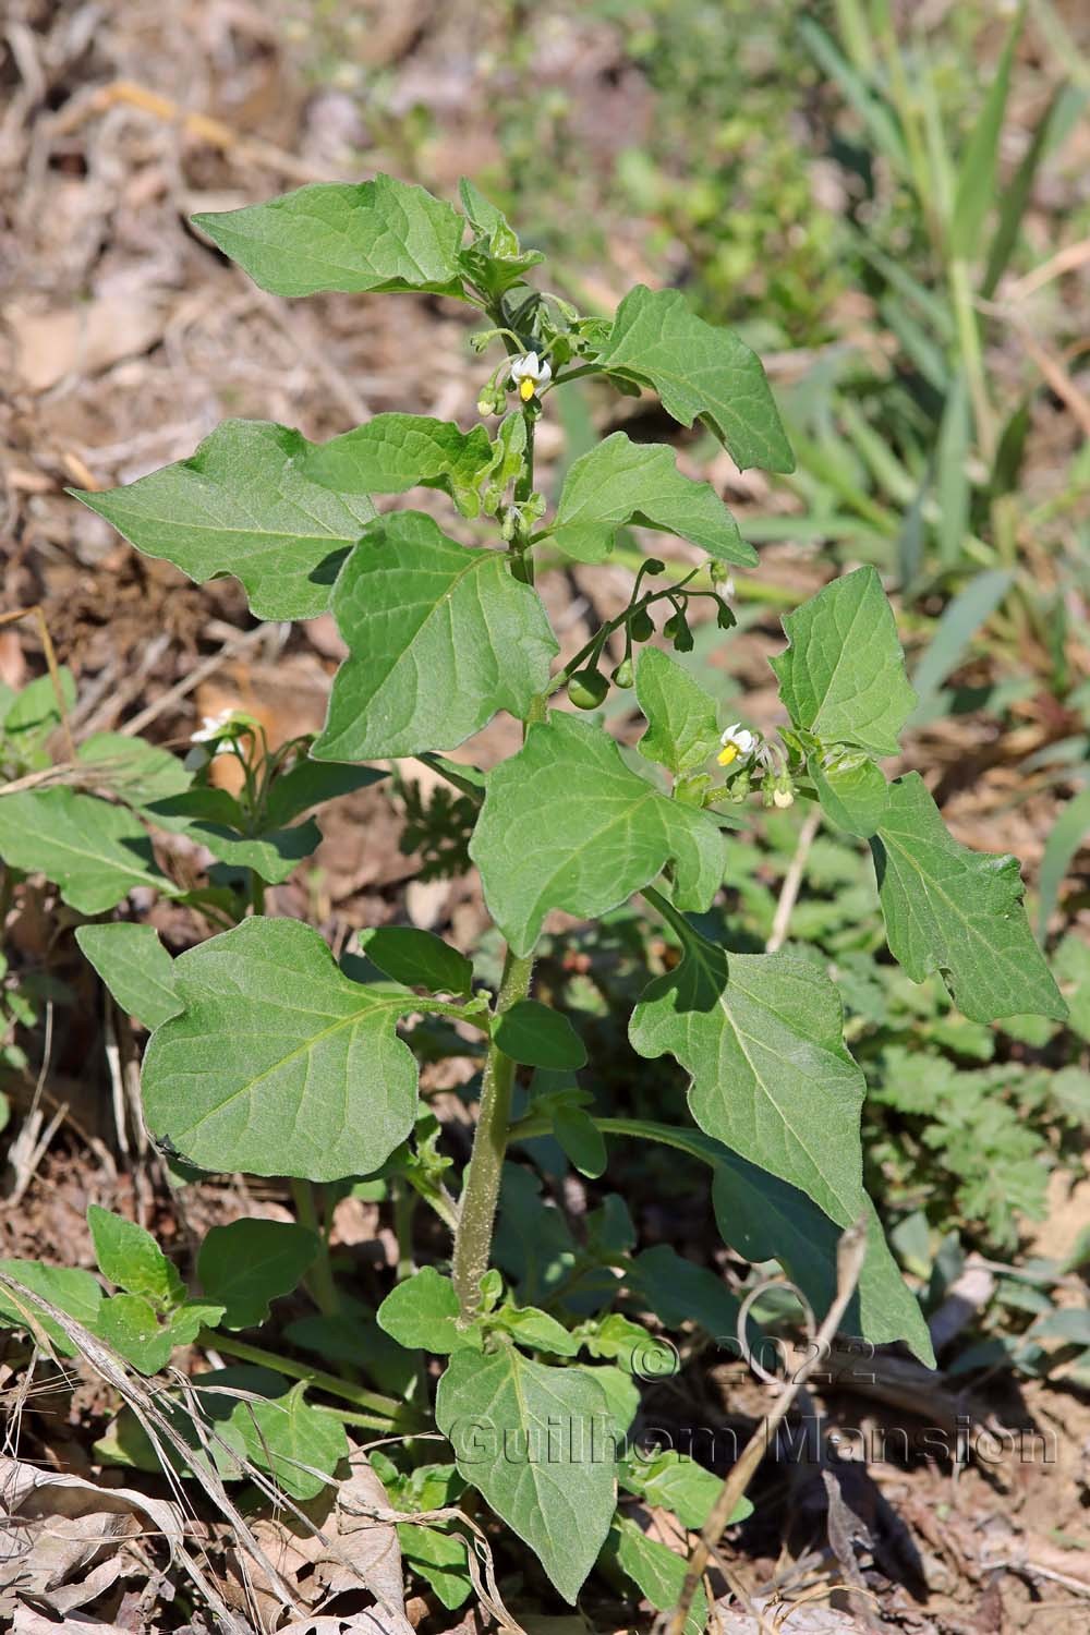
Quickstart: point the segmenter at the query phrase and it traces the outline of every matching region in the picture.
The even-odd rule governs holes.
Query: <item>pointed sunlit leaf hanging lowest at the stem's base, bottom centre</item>
[[[580,1368],[544,1367],[513,1346],[485,1357],[462,1351],[440,1380],[435,1418],[459,1473],[574,1604],[616,1504],[601,1386]]]

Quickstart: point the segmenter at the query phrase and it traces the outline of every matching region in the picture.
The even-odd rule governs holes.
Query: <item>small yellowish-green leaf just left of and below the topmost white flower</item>
[[[482,425],[462,432],[453,420],[430,415],[376,414],[355,432],[314,448],[302,473],[335,494],[444,489],[462,517],[477,517],[480,481],[490,464],[492,438]]]

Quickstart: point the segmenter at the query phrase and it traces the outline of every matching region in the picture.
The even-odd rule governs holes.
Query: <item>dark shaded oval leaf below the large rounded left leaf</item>
[[[224,1308],[224,1328],[258,1328],[270,1301],[299,1287],[319,1248],[317,1233],[294,1221],[243,1216],[208,1231],[196,1275],[206,1297]]]

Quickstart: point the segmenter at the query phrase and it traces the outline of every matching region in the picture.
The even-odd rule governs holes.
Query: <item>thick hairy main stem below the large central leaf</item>
[[[497,1019],[529,992],[533,955],[516,958],[510,948],[503,965],[503,981],[495,1004]],[[500,1195],[500,1172],[507,1156],[507,1133],[511,1122],[511,1089],[515,1063],[489,1045],[480,1081],[477,1133],[466,1169],[451,1275],[461,1306],[461,1323],[469,1324],[480,1308],[480,1279],[489,1270],[495,1205]]]

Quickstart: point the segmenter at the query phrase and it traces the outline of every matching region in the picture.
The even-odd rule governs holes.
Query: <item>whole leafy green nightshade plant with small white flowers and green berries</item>
[[[435,1444],[376,1455],[395,1504],[418,1512],[472,1488],[567,1601],[598,1563],[668,1606],[683,1563],[618,1511],[618,1486],[699,1525],[716,1481],[677,1452],[641,1460],[623,1447],[639,1404],[636,1378],[649,1372],[649,1355],[650,1372],[668,1360],[634,1315],[734,1334],[737,1301],[668,1246],[636,1252],[616,1197],[603,1200],[577,1244],[533,1172],[508,1166],[516,1230],[552,1244],[561,1261],[596,1269],[579,1300],[561,1285],[529,1301],[510,1256],[507,1279],[494,1256],[508,1153],[551,1135],[590,1176],[601,1174],[613,1141],[662,1141],[695,1156],[726,1243],[753,1262],[780,1261],[819,1315],[835,1288],[837,1241],[866,1218],[851,1331],[869,1344],[900,1341],[931,1362],[920,1310],[863,1190],[864,1082],[843,1041],[837,988],[819,961],[793,952],[729,953],[711,922],[693,916],[711,909],[730,834],[758,803],[804,800],[869,842],[889,948],[912,979],[940,971],[964,1015],[979,1020],[1059,1017],[1064,1002],[1030,934],[1015,858],[966,850],[917,773],[891,783],[881,770],[915,700],[871,567],[784,620],[788,646],[773,661],[784,708],[778,734],[762,737],[742,723],[724,731],[717,700],[652,644],[659,633],[685,652],[699,600],[721,628],[732,625],[724,579],[755,553],[719,495],[683,476],[668,446],[624,432],[570,466],[556,510],[536,486],[538,420],[556,392],[585,378],[657,392],[680,425],[699,420],[742,468],[789,471],[757,356],[677,291],[639,286],[613,320],[580,316],[528,283],[543,258],[520,249],[471,185],[461,203],[459,213],[376,177],[196,222],[278,296],[428,293],[477,309],[474,353],[497,355],[480,365],[482,423],[379,414],[314,445],[288,427],[229,420],[180,464],[78,494],[141,551],[191,579],[234,574],[261,618],[332,610],[348,657],[310,744],[270,757],[245,718],[206,726],[206,754],[227,749],[242,762],[237,798],[209,785],[206,765],[167,757],[167,775],[154,760],[162,750],[124,741],[131,775],[109,785],[109,803],[70,788],[0,800],[0,855],[51,875],[85,914],[108,912],[137,883],[186,896],[157,868],[147,824],[188,827],[221,860],[196,898],[188,888],[230,924],[221,935],[173,961],[149,927],[129,922],[87,925],[80,943],[118,1004],[154,1028],[142,1097],[160,1149],[198,1171],[294,1177],[301,1210],[297,1226],[240,1221],[211,1233],[196,1293],[147,1234],[105,1212],[92,1226],[118,1293],[103,1297],[90,1274],[25,1267],[25,1275],[65,1310],[77,1301],[82,1321],[137,1368],[162,1367],[175,1344],[194,1337],[248,1364],[248,1388],[268,1398],[258,1429],[234,1398],[216,1396],[216,1383],[229,1383],[221,1373],[201,1377],[209,1413],[222,1445],[234,1436],[235,1450],[289,1491],[312,1493],[343,1452],[337,1413],[310,1403],[302,1385],[289,1388],[294,1377],[351,1404],[340,1421],[409,1440],[433,1424],[448,1439],[446,1458],[433,1458]],[[479,540],[487,525],[489,543],[461,543],[418,510],[376,513],[374,495],[418,486],[448,495],[462,518],[454,531]],[[557,558],[606,562],[616,530],[631,523],[690,541],[709,567],[668,574],[647,558],[624,610],[562,664],[534,587],[538,567]],[[634,750],[623,752],[593,713],[611,685],[634,687],[646,721]],[[487,773],[446,759],[500,711],[523,726],[515,754]],[[100,759],[106,750],[121,752],[116,739]],[[132,765],[141,754],[152,757],[144,783]],[[284,878],[317,844],[314,824],[293,819],[405,757],[441,773],[472,816],[469,857],[505,942],[495,991],[431,934],[377,929],[363,938],[363,960],[338,966],[317,930],[261,912],[261,881]],[[78,801],[87,804],[75,813]],[[95,824],[101,839],[88,840],[100,834]],[[583,1041],[533,991],[534,948],[552,911],[593,921],[637,894],[677,960],[647,983],[629,1038],[639,1056],[673,1056],[691,1079],[688,1107],[660,1123],[595,1115],[579,1084]],[[477,1123],[461,1176],[435,1118],[420,1110],[413,1043],[435,1038],[431,1019],[479,1041]],[[324,1184],[327,1202],[351,1185],[386,1187],[402,1226],[420,1200],[438,1215],[446,1257],[413,1272],[407,1246],[377,1326],[337,1283],[309,1184]],[[87,1282],[74,1285],[77,1275]],[[317,1352],[320,1368],[234,1337],[260,1326],[270,1298],[304,1277],[320,1310],[297,1319],[289,1339]],[[422,1352],[444,1359],[433,1401]],[[338,1375],[342,1364],[355,1364],[351,1377]],[[137,1457],[126,1436],[119,1422],[109,1447]],[[405,1524],[402,1548],[446,1604],[469,1592],[458,1537]]]

